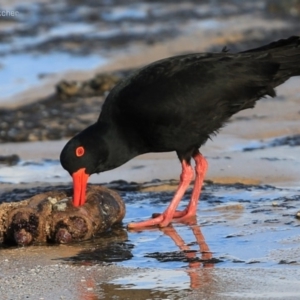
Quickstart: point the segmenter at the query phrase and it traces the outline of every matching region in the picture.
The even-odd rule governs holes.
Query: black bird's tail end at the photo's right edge
[[[261,54],[261,59],[265,56],[267,60],[278,63],[279,69],[274,77],[274,86],[292,76],[300,75],[300,37],[298,36],[291,36],[241,53]]]

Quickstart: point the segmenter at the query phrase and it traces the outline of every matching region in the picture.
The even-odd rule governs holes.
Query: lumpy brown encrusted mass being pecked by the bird
[[[125,204],[118,193],[89,186],[87,202],[72,205],[72,189],[50,191],[0,205],[0,244],[71,243],[87,240],[120,223]]]

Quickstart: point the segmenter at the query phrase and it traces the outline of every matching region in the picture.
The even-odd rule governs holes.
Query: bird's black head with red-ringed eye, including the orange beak
[[[60,154],[60,162],[73,178],[74,206],[85,203],[88,178],[103,170],[107,157],[106,144],[94,125],[74,136],[65,145]]]

